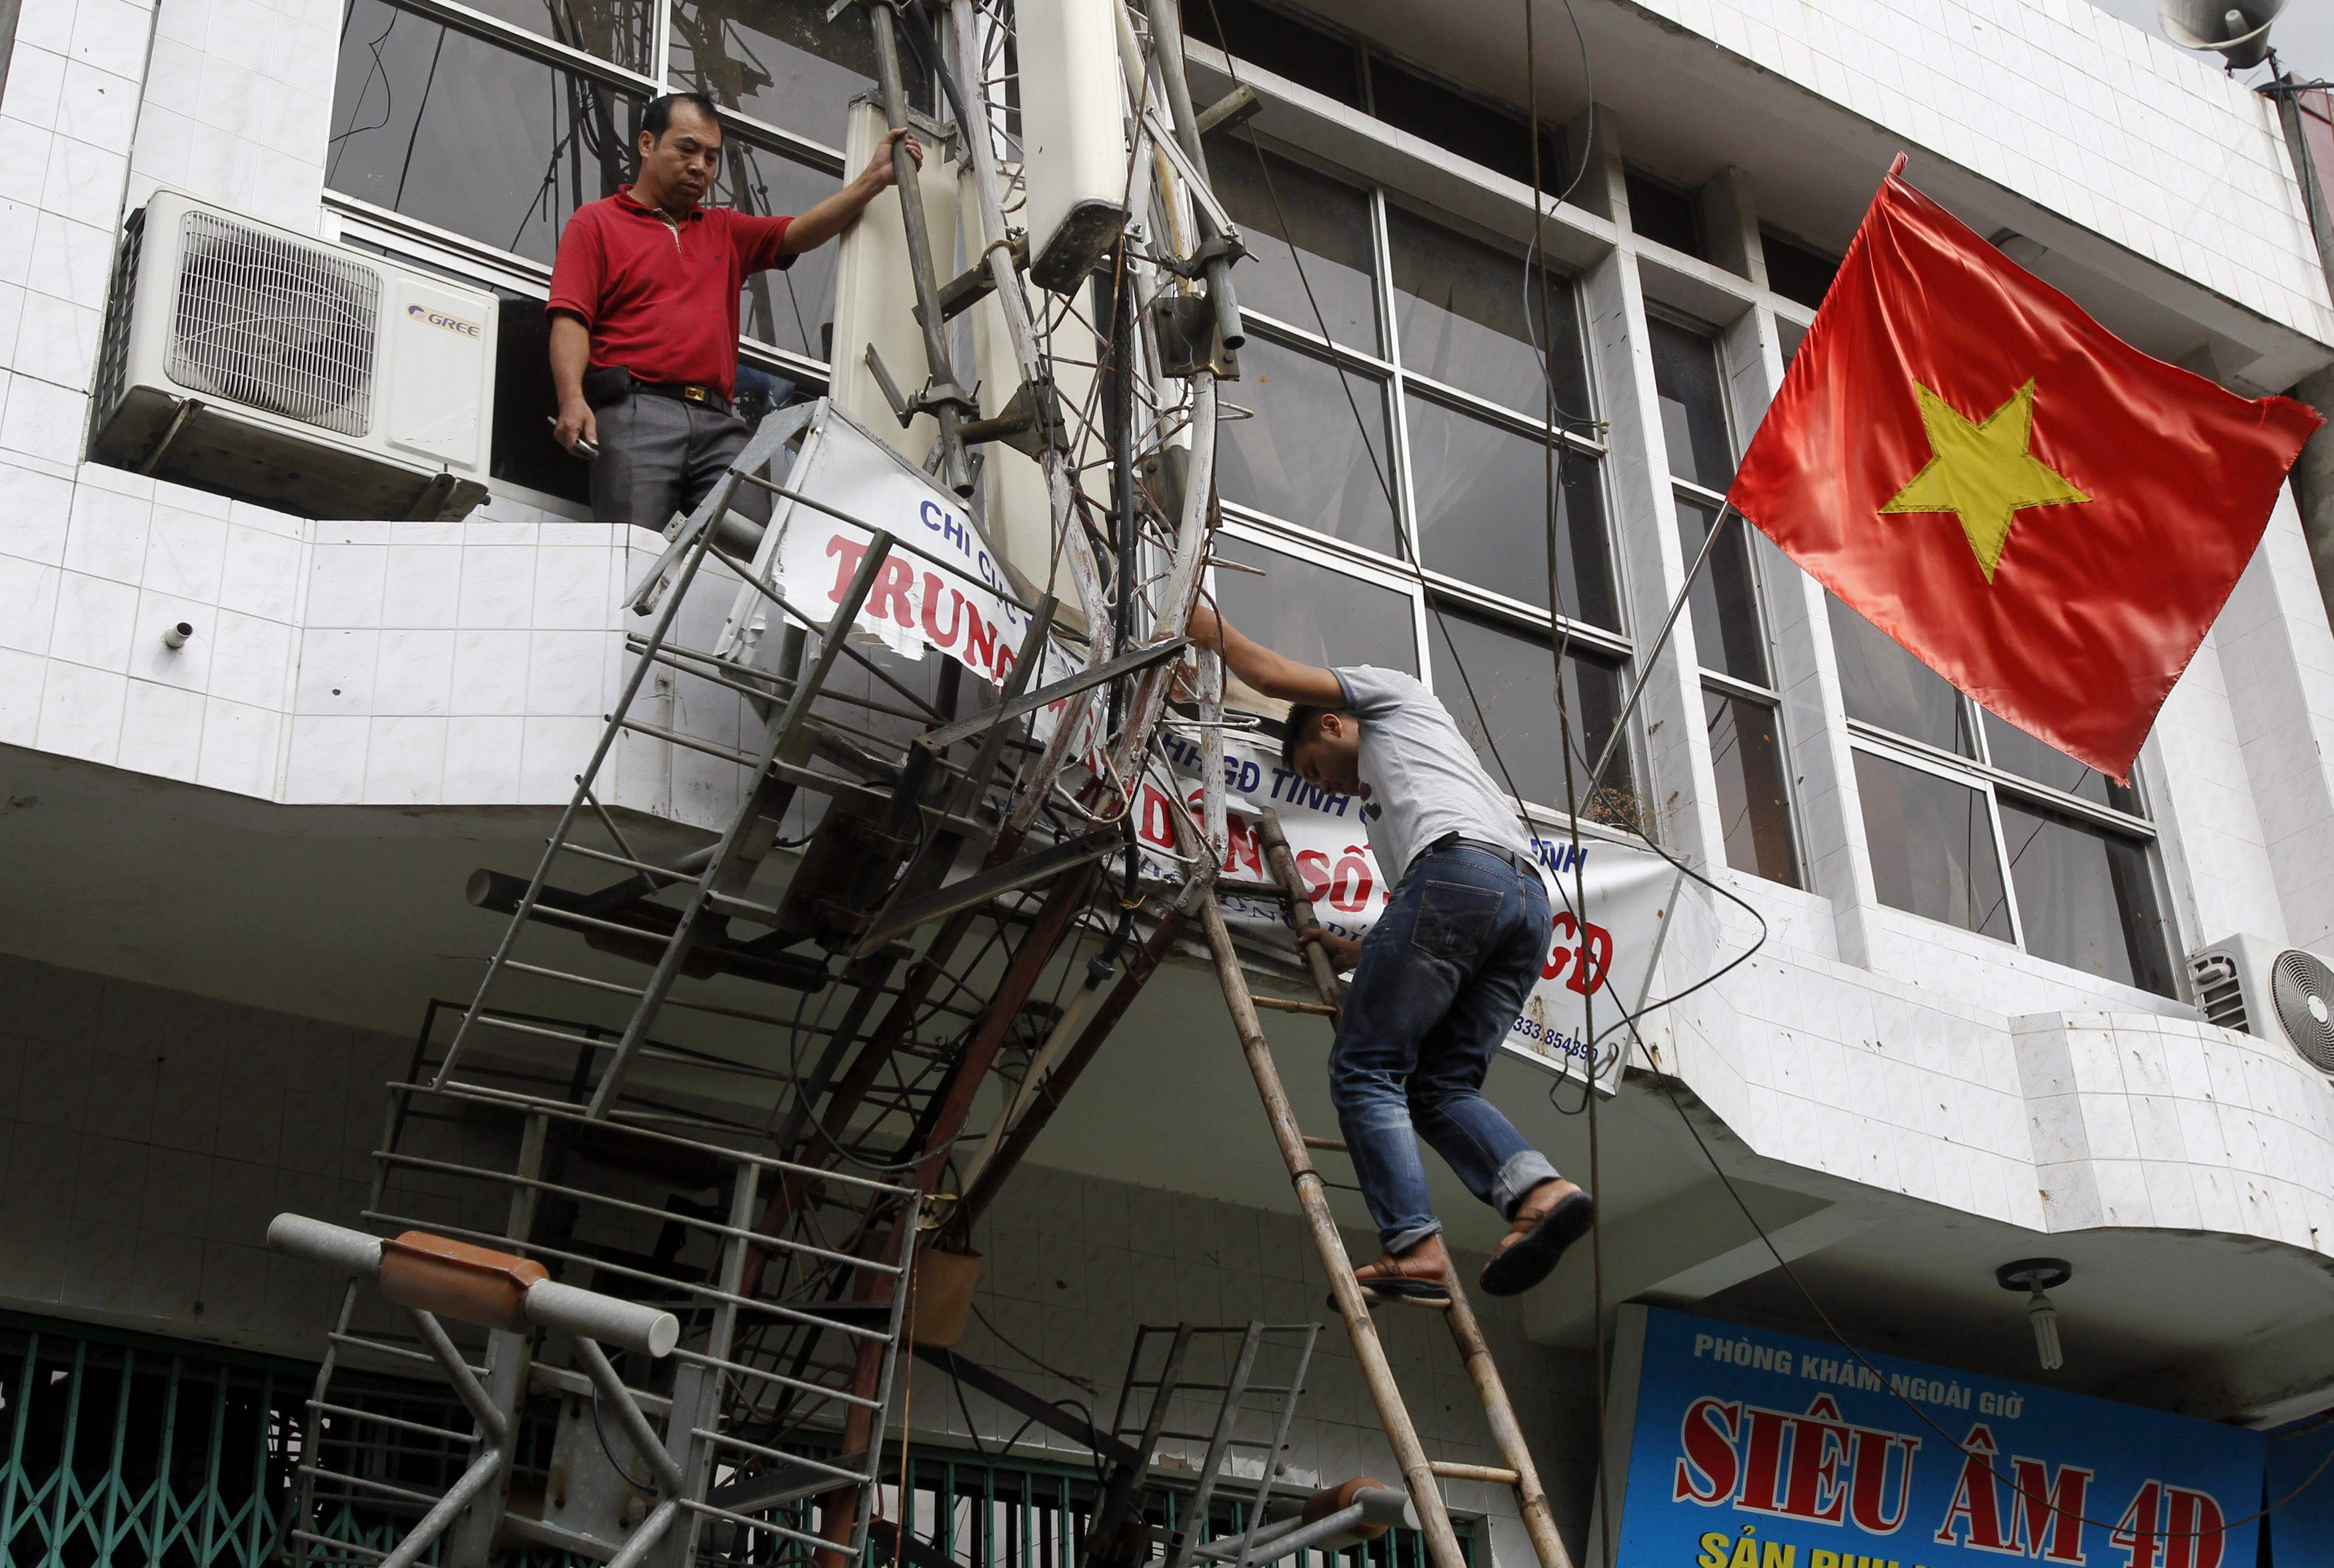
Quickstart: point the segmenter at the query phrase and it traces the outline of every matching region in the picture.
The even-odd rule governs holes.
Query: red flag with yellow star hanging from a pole
[[[1727,499],[1982,707],[2124,779],[2322,420],[2150,359],[1902,163]]]

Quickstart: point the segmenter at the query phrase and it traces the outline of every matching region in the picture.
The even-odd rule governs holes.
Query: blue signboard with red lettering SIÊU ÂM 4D
[[[1620,1568],[2255,1568],[2259,1433],[1867,1360],[1645,1309]]]

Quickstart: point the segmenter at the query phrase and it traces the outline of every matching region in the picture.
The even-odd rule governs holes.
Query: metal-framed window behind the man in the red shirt
[[[906,70],[929,105],[931,84]],[[871,79],[866,19],[829,19],[824,0],[770,0],[749,21],[696,0],[350,0],[327,196],[357,243],[504,296],[497,390],[511,394],[497,394],[492,474],[581,502],[586,474],[544,425],[541,301],[567,219],[630,177],[642,105],[710,93],[726,131],[712,201],[801,212],[840,184],[843,107]],[[742,364],[824,383],[833,273],[819,247],[747,278]]]

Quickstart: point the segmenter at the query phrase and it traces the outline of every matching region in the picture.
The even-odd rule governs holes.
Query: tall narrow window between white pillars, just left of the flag
[[[1678,553],[1701,555],[1734,483],[1725,355],[1706,327],[1648,313],[1652,383],[1662,401]],[[1727,866],[1800,887],[1800,849],[1783,744],[1783,698],[1774,681],[1767,609],[1750,525],[1727,523],[1694,576],[1687,614],[1701,656],[1701,716],[1718,782]]]

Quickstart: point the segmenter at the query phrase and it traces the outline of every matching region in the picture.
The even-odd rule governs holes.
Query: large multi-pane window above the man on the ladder
[[[1484,763],[1496,747],[1522,800],[1561,810],[1550,644],[1566,644],[1575,793],[1629,658],[1575,285],[1244,131],[1211,140],[1209,170],[1258,252],[1242,380],[1225,392],[1258,418],[1223,427],[1218,483],[1235,537],[1256,546],[1242,565],[1279,574],[1267,588],[1218,569],[1225,614],[1321,663],[1424,656]],[[1622,754],[1587,814],[1627,812]]]

